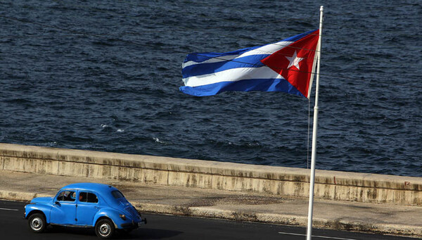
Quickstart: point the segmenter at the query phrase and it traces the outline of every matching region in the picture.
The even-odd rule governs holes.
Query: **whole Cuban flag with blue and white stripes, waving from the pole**
[[[191,53],[186,56],[180,91],[211,96],[222,91],[283,91],[309,93],[316,65],[319,30],[281,42],[227,53]]]

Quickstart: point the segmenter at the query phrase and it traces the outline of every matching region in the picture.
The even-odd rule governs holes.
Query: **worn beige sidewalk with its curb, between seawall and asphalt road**
[[[307,225],[307,198],[141,185],[118,180],[0,171],[0,198],[30,201],[35,196],[54,196],[58,189],[75,182],[112,184],[143,212]],[[314,227],[422,236],[422,207],[316,200]]]

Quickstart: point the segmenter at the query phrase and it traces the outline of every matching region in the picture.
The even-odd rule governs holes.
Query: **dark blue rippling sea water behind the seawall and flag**
[[[307,168],[307,99],[179,87],[187,53],[316,29],[317,2],[5,4],[55,28],[2,24],[2,142]],[[326,4],[317,168],[422,176],[421,4]],[[312,130],[314,93],[309,106]]]

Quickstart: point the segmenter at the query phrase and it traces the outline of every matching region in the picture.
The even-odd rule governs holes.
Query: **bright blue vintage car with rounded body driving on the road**
[[[146,224],[118,189],[96,183],[70,184],[54,197],[32,199],[25,219],[33,232],[43,232],[47,225],[95,227],[102,239],[110,239],[115,229],[129,232]]]

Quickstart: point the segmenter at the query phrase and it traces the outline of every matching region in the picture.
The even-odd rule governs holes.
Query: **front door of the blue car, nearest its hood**
[[[76,224],[76,190],[62,190],[54,199],[50,212],[50,223],[58,225]]]

